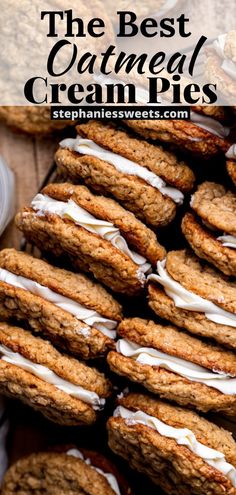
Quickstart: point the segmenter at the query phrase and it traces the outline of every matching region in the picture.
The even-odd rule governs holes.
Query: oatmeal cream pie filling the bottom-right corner
[[[168,495],[235,495],[236,443],[193,411],[148,395],[119,399],[109,446]]]

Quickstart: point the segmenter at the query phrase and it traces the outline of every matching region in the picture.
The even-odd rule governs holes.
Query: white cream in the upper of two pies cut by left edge
[[[117,327],[117,322],[114,320],[109,320],[108,318],[103,318],[99,313],[93,309],[86,308],[82,304],[79,304],[68,297],[64,297],[57,292],[52,291],[48,287],[40,285],[34,280],[30,280],[20,275],[15,275],[4,268],[0,268],[0,281],[5,282],[14,287],[19,287],[19,289],[28,290],[36,296],[40,296],[43,299],[55,304],[58,308],[67,311],[72,314],[78,320],[83,321],[86,325],[93,326],[97,330],[100,330],[104,335],[115,339]],[[87,335],[89,335],[90,329],[88,328]]]

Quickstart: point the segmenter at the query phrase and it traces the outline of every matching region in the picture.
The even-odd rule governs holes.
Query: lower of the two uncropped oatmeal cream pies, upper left
[[[16,217],[26,239],[73,266],[91,272],[115,292],[129,295],[165,249],[156,235],[113,199],[95,196],[85,186],[50,184]]]

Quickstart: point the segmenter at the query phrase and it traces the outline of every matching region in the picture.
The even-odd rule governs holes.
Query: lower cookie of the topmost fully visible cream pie
[[[135,175],[124,174],[94,156],[59,148],[55,155],[59,171],[74,184],[83,181],[95,192],[111,195],[137,218],[154,227],[170,223],[176,205],[168,196]]]

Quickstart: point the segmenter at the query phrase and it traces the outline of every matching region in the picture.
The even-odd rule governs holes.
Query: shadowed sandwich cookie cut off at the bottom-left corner
[[[58,449],[59,450],[59,449]],[[123,475],[102,454],[77,447],[31,454],[4,477],[2,495],[38,493],[132,495]]]

